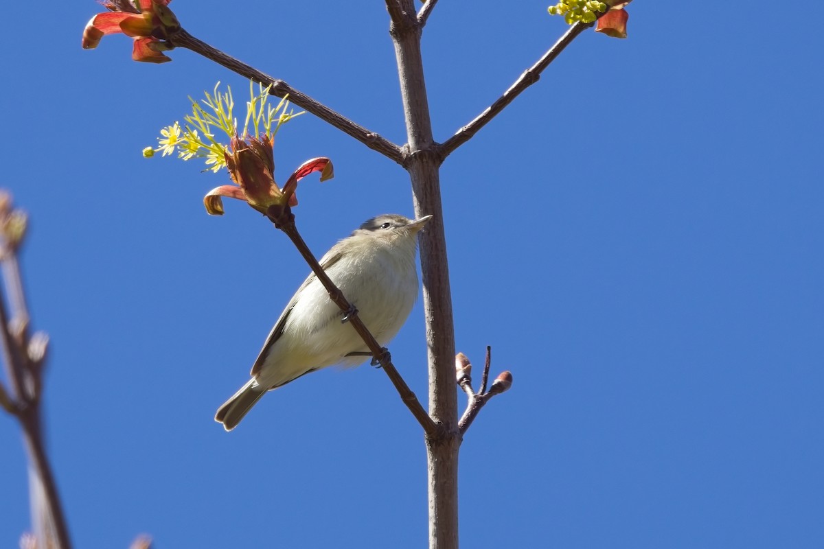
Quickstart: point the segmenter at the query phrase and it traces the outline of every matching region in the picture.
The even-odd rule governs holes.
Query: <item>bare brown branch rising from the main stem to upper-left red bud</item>
[[[403,153],[401,152],[400,147],[398,147],[395,143],[389,141],[385,137],[381,137],[367,128],[363,128],[363,126],[358,123],[354,123],[342,114],[339,114],[319,101],[312,99],[309,95],[306,95],[302,91],[295,90],[283,80],[270,77],[269,75],[258,71],[254,67],[250,67],[242,61],[224,54],[219,49],[215,49],[209,44],[206,44],[204,41],[194,38],[194,36],[190,35],[183,29],[176,31],[176,33],[171,35],[169,37],[169,41],[177,47],[190,49],[196,54],[203,55],[205,58],[211,59],[223,67],[227,67],[230,71],[241,75],[241,77],[250,78],[254,81],[260,82],[264,86],[272,86],[271,90],[269,90],[271,95],[276,97],[289,95],[289,100],[301,109],[305,109],[307,112],[314,114],[324,122],[338,128],[341,132],[354,137],[370,149],[380,152],[391,161],[396,161],[398,164],[403,162]]]

